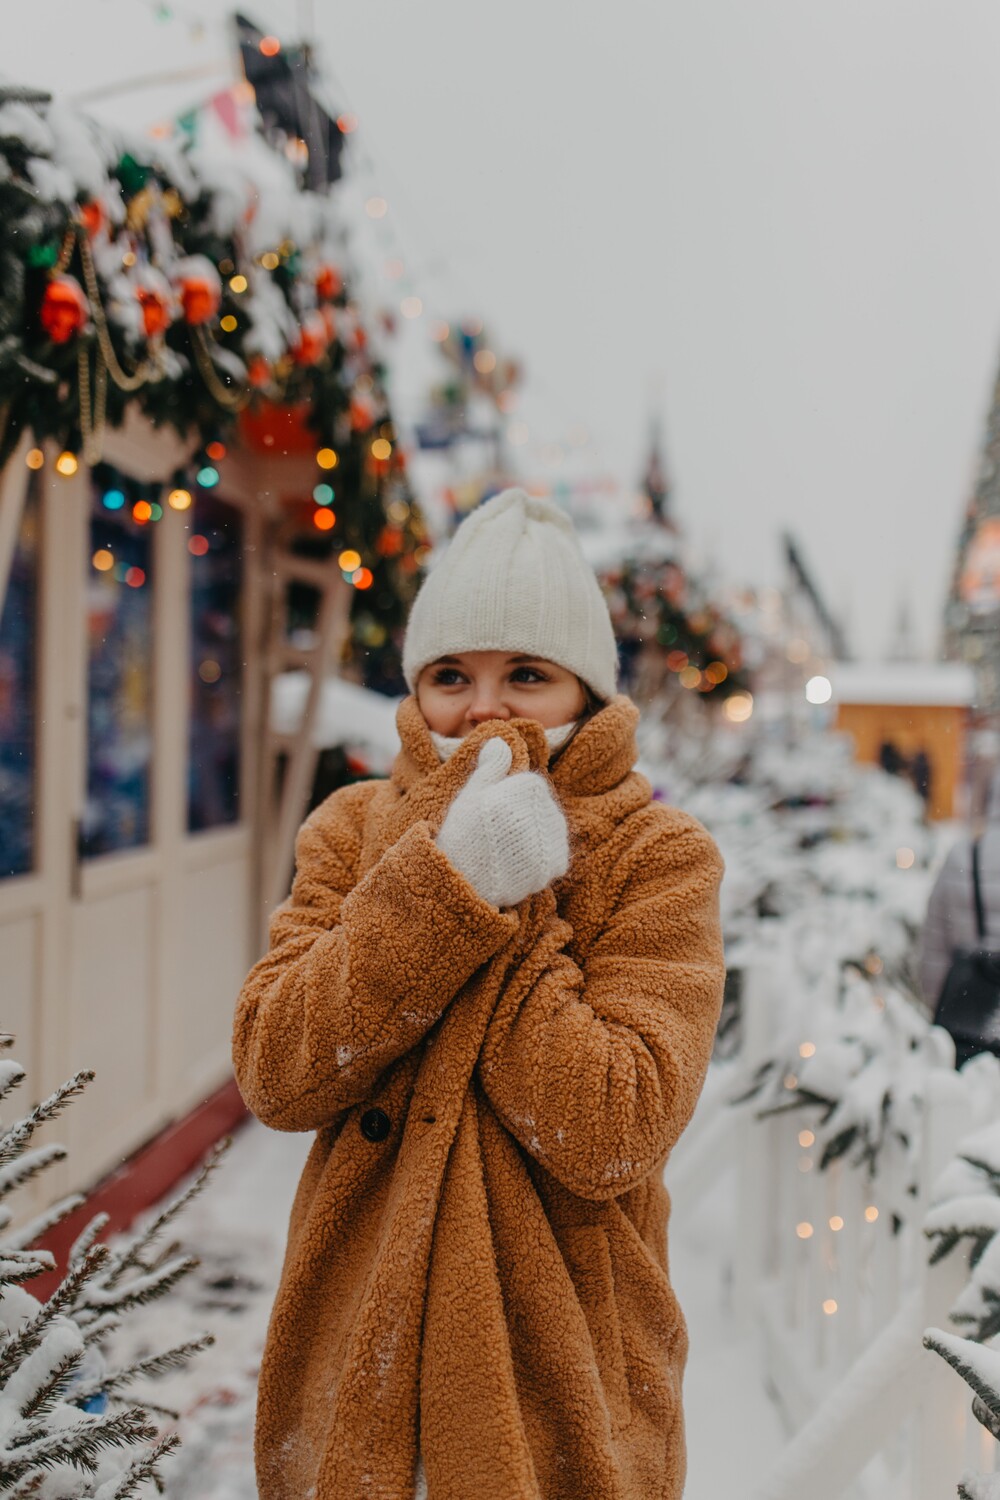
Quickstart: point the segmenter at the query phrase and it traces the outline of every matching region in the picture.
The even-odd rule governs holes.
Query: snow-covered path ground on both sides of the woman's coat
[[[136,1352],[205,1329],[216,1335],[213,1348],[154,1389],[157,1401],[183,1413],[183,1448],[165,1466],[168,1500],[256,1500],[256,1370],[310,1140],[265,1130],[256,1120],[237,1132],[214,1180],[177,1222],[178,1238],[201,1257],[201,1268],[133,1320],[127,1347]],[[733,1332],[727,1312],[733,1198],[732,1178],[721,1178],[690,1222],[670,1227],[670,1269],[691,1335],[687,1500],[748,1494],[783,1444],[753,1346]]]

